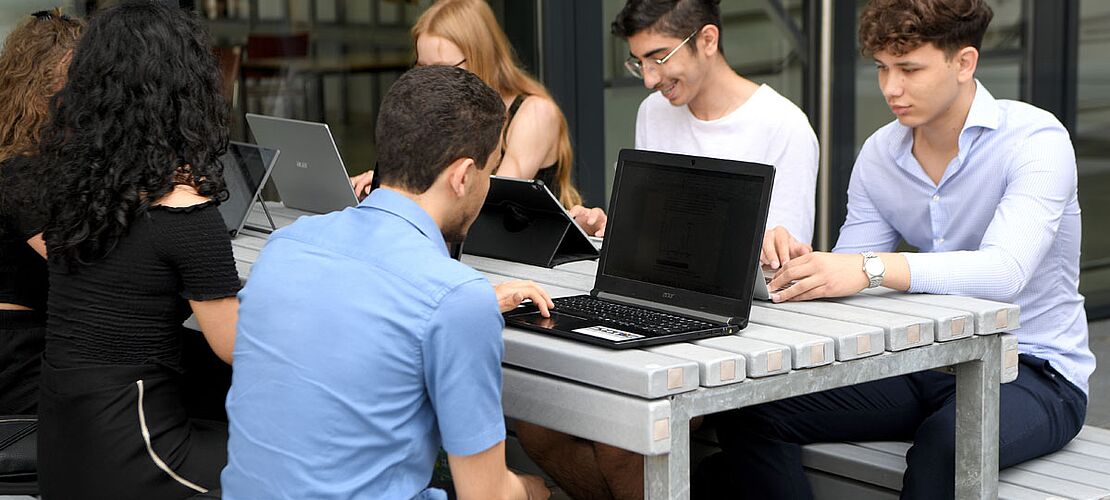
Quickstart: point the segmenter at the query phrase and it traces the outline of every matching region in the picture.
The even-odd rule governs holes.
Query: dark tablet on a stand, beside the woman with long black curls
[[[220,157],[223,181],[228,188],[228,199],[220,202],[220,214],[232,237],[246,226],[251,207],[270,179],[278,157],[279,151],[275,149],[242,142],[231,142],[228,144],[228,152]]]

